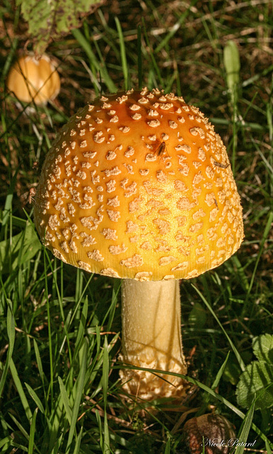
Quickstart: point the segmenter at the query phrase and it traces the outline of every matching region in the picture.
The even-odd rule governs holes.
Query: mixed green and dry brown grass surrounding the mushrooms
[[[271,453],[270,409],[239,408],[235,395],[253,360],[252,338],[272,333],[270,2],[102,6],[50,44],[62,90],[34,111],[18,109],[6,93],[6,74],[28,37],[9,1],[0,14],[0,452],[184,454],[185,420],[217,411],[242,439],[257,438],[258,452]],[[238,253],[181,282],[191,392],[179,406],[124,402],[120,283],[52,258],[25,199],[55,133],[76,109],[101,92],[144,85],[182,94],[211,119],[228,148],[244,212]]]

